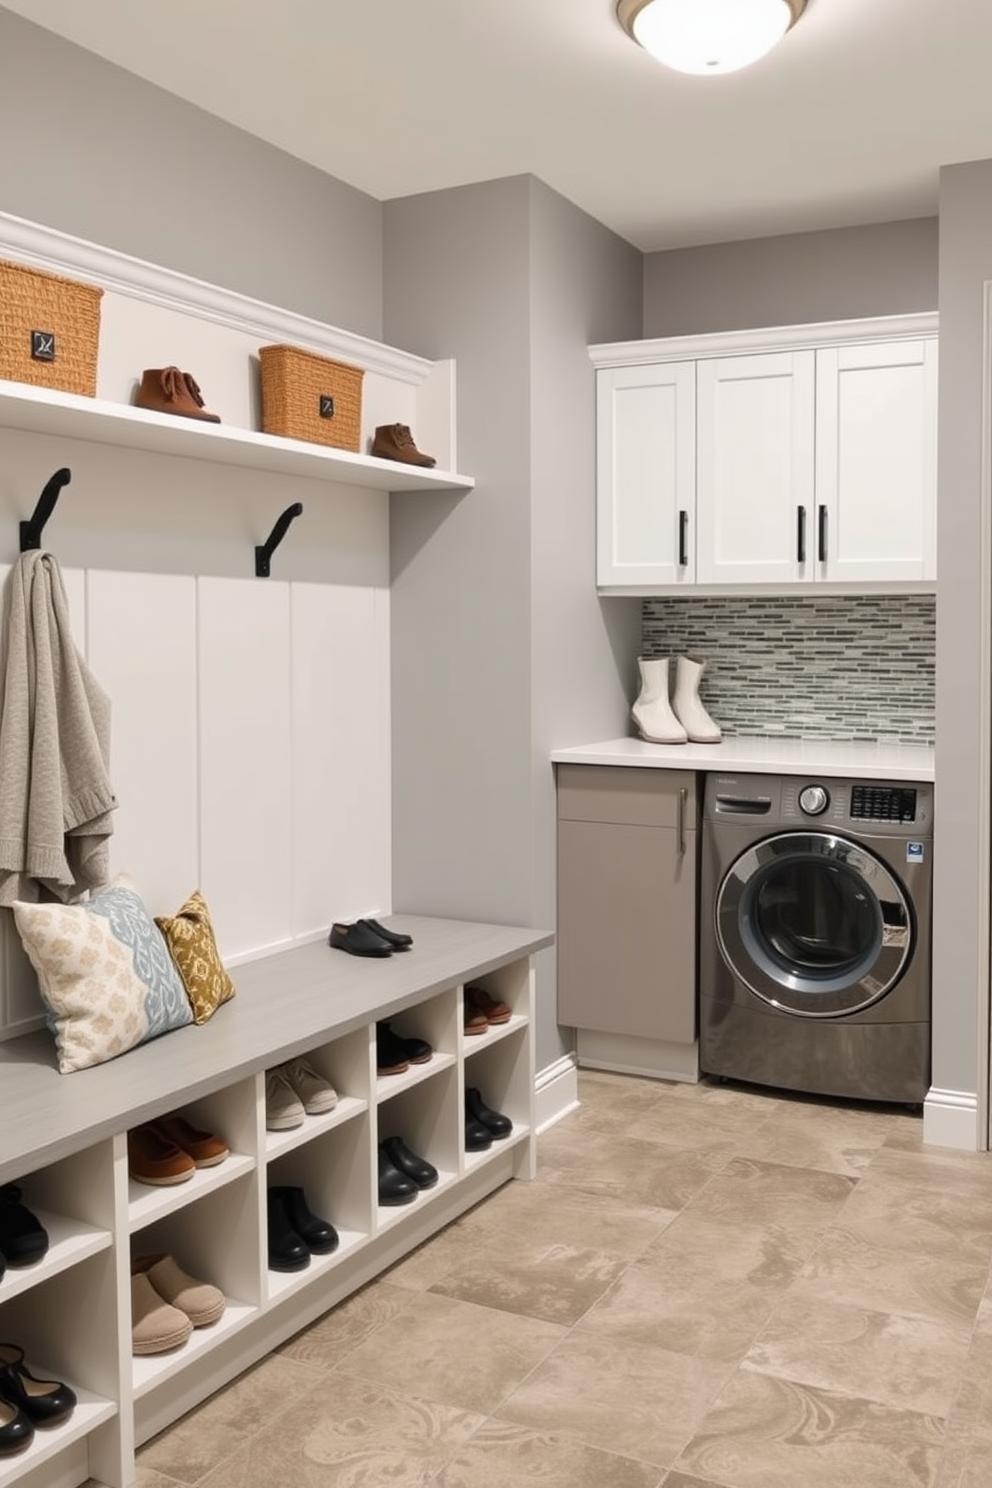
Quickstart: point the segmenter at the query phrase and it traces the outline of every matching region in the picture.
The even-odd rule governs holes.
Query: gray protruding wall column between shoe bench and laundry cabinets
[[[394,903],[553,926],[556,744],[616,734],[638,606],[595,594],[593,371],[640,254],[528,177],[388,202],[385,335],[458,362],[460,503],[393,498]],[[538,964],[537,1062],[562,1052]]]

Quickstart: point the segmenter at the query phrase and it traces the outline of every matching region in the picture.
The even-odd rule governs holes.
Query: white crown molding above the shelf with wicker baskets
[[[85,238],[73,238],[67,232],[57,232],[6,211],[0,211],[0,256],[48,274],[79,277],[100,289],[193,314],[232,330],[244,330],[260,342],[289,342],[400,382],[419,385],[433,368],[431,362],[409,351],[397,351],[379,341],[355,336],[296,311],[268,305]]]

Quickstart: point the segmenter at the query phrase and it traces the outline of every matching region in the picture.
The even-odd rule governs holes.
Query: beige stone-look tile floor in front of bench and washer
[[[583,1071],[510,1183],[138,1454],[138,1488],[989,1488],[992,1156]]]

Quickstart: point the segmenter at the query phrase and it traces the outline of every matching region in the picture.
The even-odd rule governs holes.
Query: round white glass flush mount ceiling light
[[[806,0],[617,0],[632,40],[680,73],[735,73],[770,52]]]

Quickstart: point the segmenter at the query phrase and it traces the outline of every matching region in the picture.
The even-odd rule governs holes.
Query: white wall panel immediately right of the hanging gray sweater
[[[196,580],[91,571],[88,637],[113,699],[112,870],[134,879],[153,914],[174,914],[199,881]]]

